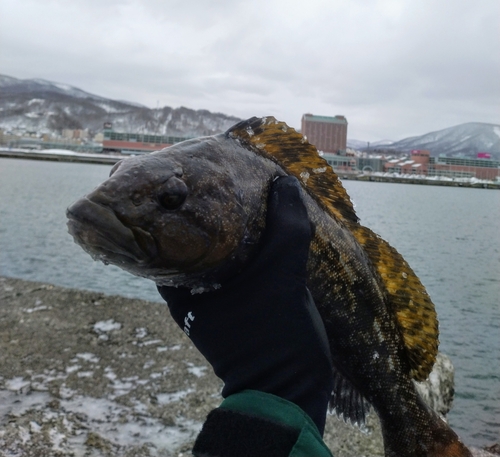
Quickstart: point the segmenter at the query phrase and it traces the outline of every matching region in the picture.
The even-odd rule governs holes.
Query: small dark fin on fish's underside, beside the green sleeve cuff
[[[353,384],[336,368],[333,369],[333,390],[330,398],[330,413],[364,428],[370,404]]]

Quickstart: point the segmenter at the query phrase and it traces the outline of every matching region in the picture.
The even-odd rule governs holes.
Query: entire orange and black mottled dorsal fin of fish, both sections
[[[253,117],[231,127],[226,135],[274,161],[297,177],[327,213],[342,221],[365,250],[387,292],[388,308],[403,336],[410,375],[424,380],[438,348],[438,322],[424,286],[396,249],[358,223],[339,178],[300,133],[274,117]]]

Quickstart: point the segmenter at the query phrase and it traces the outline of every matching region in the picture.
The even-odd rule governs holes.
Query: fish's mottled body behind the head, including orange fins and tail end
[[[302,135],[272,117],[245,121],[230,135],[299,178],[314,200],[308,285],[334,359],[332,407],[359,423],[365,400],[373,405],[387,456],[470,455],[412,382],[432,370],[438,322],[408,263],[359,224],[340,180]]]

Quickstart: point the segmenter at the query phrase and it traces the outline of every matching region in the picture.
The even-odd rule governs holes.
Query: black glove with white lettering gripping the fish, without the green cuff
[[[325,328],[306,287],[312,229],[293,177],[278,178],[252,262],[212,292],[158,287],[172,317],[224,381],[274,394],[304,410],[323,434],[333,386]]]

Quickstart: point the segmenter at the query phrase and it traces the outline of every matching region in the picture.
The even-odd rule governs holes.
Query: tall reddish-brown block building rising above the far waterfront
[[[347,149],[347,119],[344,116],[302,116],[302,135],[318,151],[342,153]]]

